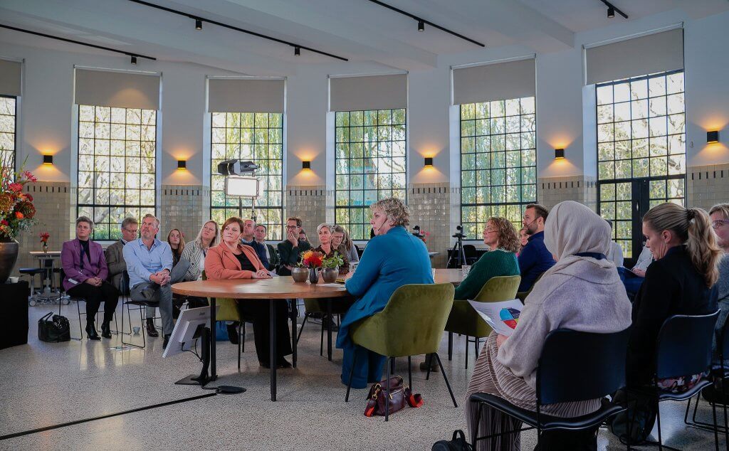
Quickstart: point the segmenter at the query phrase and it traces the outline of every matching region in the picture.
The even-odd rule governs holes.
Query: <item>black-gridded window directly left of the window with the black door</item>
[[[478,239],[491,216],[521,228],[537,202],[534,97],[461,105],[461,223]]]

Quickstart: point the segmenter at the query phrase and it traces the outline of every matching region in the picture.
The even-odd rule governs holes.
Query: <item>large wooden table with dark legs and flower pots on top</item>
[[[458,285],[463,278],[461,270],[435,270],[435,283],[453,283]],[[207,297],[210,299],[211,323],[215,323],[215,299],[269,299],[270,300],[270,391],[271,401],[276,401],[276,309],[274,302],[289,302],[289,316],[292,321],[291,344],[293,350],[293,366],[296,366],[297,340],[296,340],[296,299],[329,299],[327,302],[328,315],[331,317],[332,302],[337,299],[349,299],[351,294],[344,288],[343,283],[316,284],[295,283],[291,276],[278,276],[270,279],[227,279],[217,281],[193,281],[175,283],[172,292],[183,296]],[[327,357],[332,360],[332,329],[327,327],[329,347]],[[217,379],[215,362],[215,340],[210,340],[211,380]]]

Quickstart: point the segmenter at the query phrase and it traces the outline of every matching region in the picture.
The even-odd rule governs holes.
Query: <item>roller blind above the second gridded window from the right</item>
[[[453,69],[453,105],[534,95],[534,58]]]

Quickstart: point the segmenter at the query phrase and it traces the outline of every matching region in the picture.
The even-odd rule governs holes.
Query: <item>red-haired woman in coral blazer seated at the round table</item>
[[[268,279],[270,274],[251,246],[241,244],[241,230],[244,223],[240,218],[230,218],[222,227],[222,243],[210,248],[205,258],[205,274],[208,279]],[[258,362],[270,368],[270,311],[266,299],[245,299],[238,302],[242,315],[253,318],[253,333],[256,343]],[[291,337],[288,327],[288,306],[286,302],[275,302],[276,307],[276,352],[273,362],[280,368],[291,366],[284,356],[292,353]]]

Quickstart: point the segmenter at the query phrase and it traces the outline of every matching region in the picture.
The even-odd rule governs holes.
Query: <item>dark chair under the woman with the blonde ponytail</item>
[[[659,379],[699,374],[711,369],[712,336],[718,317],[719,310],[709,315],[674,315],[663,322],[655,344],[655,377],[653,378],[655,392],[653,394],[658,403],[666,400],[686,401],[712,384],[709,379],[702,379],[682,393],[671,393],[658,388]],[[712,425],[714,445],[719,450],[716,404],[712,404],[712,408],[714,412],[714,424]],[[663,450],[663,439],[660,436],[660,407],[656,410],[658,443],[647,443],[658,444],[658,449]],[[672,449],[667,446],[666,448]]]

